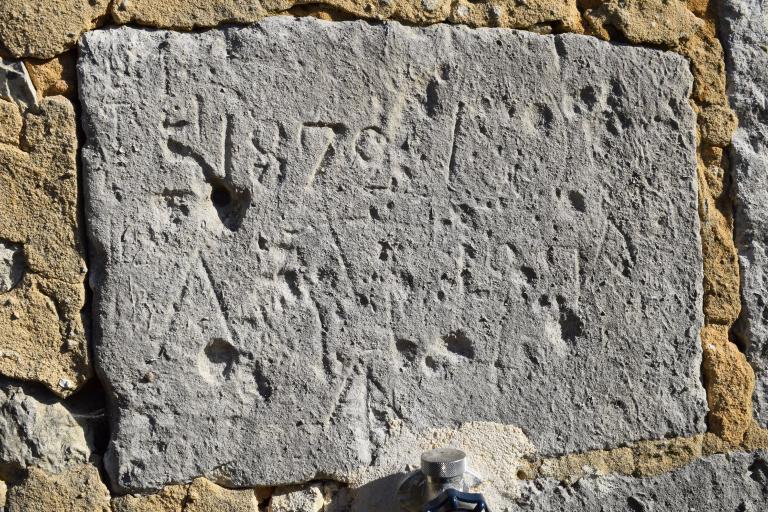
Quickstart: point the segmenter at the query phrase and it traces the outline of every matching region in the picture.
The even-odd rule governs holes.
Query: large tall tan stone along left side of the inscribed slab
[[[22,118],[16,105],[0,100],[5,119],[0,244],[11,264],[0,262],[0,374],[66,396],[91,374],[81,318],[86,269],[75,112],[62,97],[45,98]]]

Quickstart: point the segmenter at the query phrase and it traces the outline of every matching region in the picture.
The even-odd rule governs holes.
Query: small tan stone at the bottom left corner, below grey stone
[[[95,466],[83,464],[60,474],[32,468],[8,491],[9,512],[110,512],[109,491]]]

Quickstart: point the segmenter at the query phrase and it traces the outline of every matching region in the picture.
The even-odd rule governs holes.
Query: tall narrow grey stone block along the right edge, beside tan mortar
[[[768,4],[726,0],[720,9],[728,95],[739,117],[730,149],[742,274],[736,332],[755,369],[755,417],[768,427]]]

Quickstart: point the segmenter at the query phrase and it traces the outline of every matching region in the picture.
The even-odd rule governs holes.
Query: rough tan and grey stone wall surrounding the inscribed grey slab
[[[634,510],[652,504],[669,510],[760,510],[768,500],[768,466],[760,451],[768,448],[760,327],[766,307],[761,198],[767,124],[761,112],[768,85],[759,63],[765,60],[768,29],[760,20],[766,9],[756,0],[4,2],[0,374],[8,380],[0,383],[0,507],[394,510],[386,501],[396,481],[391,475],[405,470],[421,449],[453,443],[469,452],[486,477],[482,490],[499,508],[593,510],[600,503]],[[343,481],[338,475],[317,475],[312,482],[298,481],[306,477],[292,482],[298,487],[230,489],[227,475],[211,471],[183,482],[170,479],[157,492],[121,496],[125,490],[101,472],[107,438],[115,434],[110,432],[115,418],[109,416],[118,410],[116,395],[108,381],[93,377],[94,347],[88,346],[92,303],[86,293],[83,225],[89,219],[83,218],[80,188],[78,151],[85,141],[82,133],[78,136],[82,115],[74,67],[81,52],[75,45],[83,33],[111,25],[189,31],[278,14],[575,33],[684,57],[697,115],[700,376],[707,431],[672,439],[629,436],[623,442],[618,432],[598,449],[542,454],[530,441],[535,427],[524,431],[499,421],[467,421],[414,434],[395,422],[391,428],[402,435],[384,443],[374,464],[343,475]],[[531,75],[535,78],[536,71]],[[669,193],[662,191],[662,198]]]

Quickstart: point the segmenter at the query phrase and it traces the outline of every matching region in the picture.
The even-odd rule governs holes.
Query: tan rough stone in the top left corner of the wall
[[[0,2],[0,53],[50,59],[77,43],[107,13],[109,0]]]

